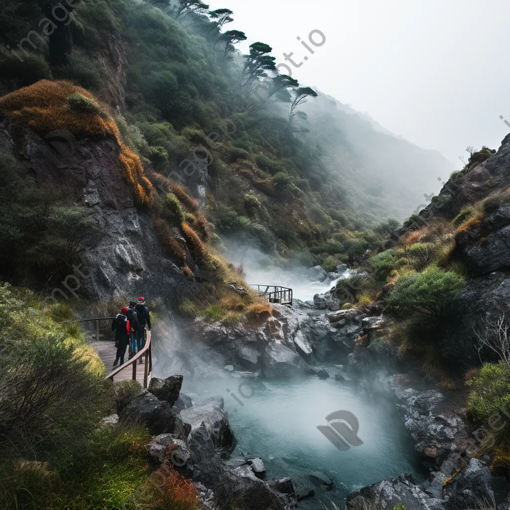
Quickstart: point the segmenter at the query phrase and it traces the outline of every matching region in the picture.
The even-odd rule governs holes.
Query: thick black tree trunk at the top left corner
[[[37,0],[37,5],[46,18],[51,21],[46,25],[45,33],[49,39],[49,63],[54,66],[65,65],[69,62],[69,55],[72,51],[72,25],[74,24],[69,17],[79,5],[72,7],[66,3],[65,8],[62,9],[59,4],[59,0]],[[65,16],[63,16],[64,13],[66,13]],[[50,32],[52,29],[53,32]]]

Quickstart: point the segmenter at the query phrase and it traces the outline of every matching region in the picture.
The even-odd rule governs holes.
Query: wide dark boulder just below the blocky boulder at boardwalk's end
[[[186,439],[191,427],[172,412],[170,404],[159,400],[144,390],[127,404],[120,413],[119,419],[128,423],[141,424],[152,435],[165,432],[173,433],[180,439]]]

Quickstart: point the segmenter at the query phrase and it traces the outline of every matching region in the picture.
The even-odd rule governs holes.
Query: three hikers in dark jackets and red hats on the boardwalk
[[[149,309],[145,306],[145,298],[141,296],[137,301],[130,301],[129,307],[122,308],[120,314],[113,319],[112,331],[115,331],[115,347],[117,347],[114,367],[119,361],[120,365],[124,364],[127,346],[129,346],[128,360],[143,349],[146,339],[145,326],[150,331]],[[138,363],[143,363],[143,356],[140,356]]]

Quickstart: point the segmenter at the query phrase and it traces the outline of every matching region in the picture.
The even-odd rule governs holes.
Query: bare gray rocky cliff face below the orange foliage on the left
[[[108,302],[117,296],[158,296],[172,309],[193,293],[197,284],[165,258],[150,211],[135,207],[119,171],[115,140],[79,140],[68,147],[72,148],[71,157],[55,154],[58,164],[48,159],[41,147],[53,151],[29,129],[15,139],[7,122],[0,129],[3,153],[22,158],[24,171],[34,175],[39,185],[65,187],[69,198],[89,208],[96,221],[94,246],[80,254],[82,271],[92,274],[82,281],[80,298]],[[199,176],[194,176],[194,185],[200,185]],[[185,247],[184,239],[181,242]],[[197,271],[189,253],[188,260]]]

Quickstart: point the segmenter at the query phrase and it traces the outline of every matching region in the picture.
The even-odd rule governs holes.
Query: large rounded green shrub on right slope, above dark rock
[[[463,287],[461,275],[429,266],[421,273],[401,276],[386,298],[386,304],[402,316],[443,316]]]

